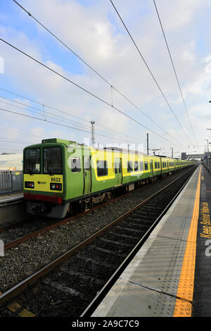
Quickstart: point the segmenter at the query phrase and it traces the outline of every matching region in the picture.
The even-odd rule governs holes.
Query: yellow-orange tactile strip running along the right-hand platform
[[[196,264],[196,235],[198,227],[199,203],[200,203],[200,172],[198,174],[198,186],[193,206],[193,216],[188,232],[184,260],[181,267],[177,299],[174,308],[174,317],[191,317],[193,301],[193,285]]]

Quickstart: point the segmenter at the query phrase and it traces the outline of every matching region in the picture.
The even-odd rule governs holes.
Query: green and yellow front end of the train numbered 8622
[[[65,149],[64,144],[44,141],[24,149],[23,198],[27,200],[27,213],[53,218],[66,215]]]

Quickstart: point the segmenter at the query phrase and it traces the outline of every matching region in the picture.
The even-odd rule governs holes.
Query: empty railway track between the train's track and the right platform
[[[1,314],[8,305],[6,302],[17,296],[18,304],[37,316],[90,316],[194,170],[188,170],[84,242],[1,294]]]

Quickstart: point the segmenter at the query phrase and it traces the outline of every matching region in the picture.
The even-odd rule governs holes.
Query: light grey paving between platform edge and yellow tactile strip
[[[199,168],[93,313],[173,316]]]

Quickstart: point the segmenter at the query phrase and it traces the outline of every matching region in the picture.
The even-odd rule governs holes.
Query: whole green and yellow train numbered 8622
[[[64,218],[75,208],[111,199],[143,182],[192,165],[127,149],[93,149],[63,139],[45,139],[23,151],[23,193],[27,213]]]

